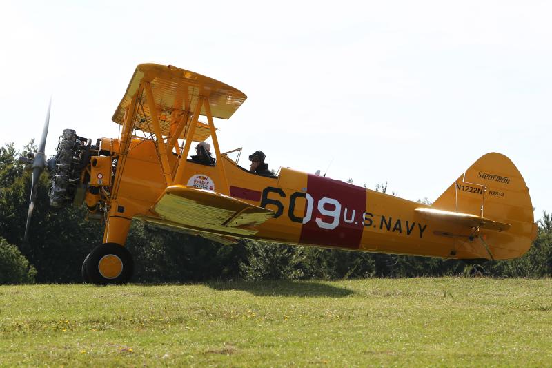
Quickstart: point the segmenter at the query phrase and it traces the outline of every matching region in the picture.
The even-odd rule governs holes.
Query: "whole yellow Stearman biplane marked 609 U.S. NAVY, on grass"
[[[518,257],[535,238],[529,189],[500,153],[478,159],[432,206],[291,168],[256,175],[221,153],[213,123],[229,119],[245,100],[204,75],[140,64],[112,117],[119,138],[92,144],[66,129],[46,160],[48,108],[37,155],[21,158],[33,169],[25,236],[47,168],[52,206],[86,204],[88,217],[105,223],[103,244],[82,267],[85,281],[95,284],[130,280],[133,261],[124,245],[132,219],[222,244],[260,239],[471,263]],[[189,159],[193,142],[208,137],[216,160]]]

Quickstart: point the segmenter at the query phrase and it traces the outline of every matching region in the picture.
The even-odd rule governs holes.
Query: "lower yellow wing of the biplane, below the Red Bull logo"
[[[253,235],[257,225],[274,214],[224,194],[182,185],[168,186],[153,210],[187,228],[228,235]]]

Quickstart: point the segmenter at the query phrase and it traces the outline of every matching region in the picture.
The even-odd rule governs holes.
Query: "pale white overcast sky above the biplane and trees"
[[[3,1],[0,144],[117,137],[137,64],[242,90],[221,151],[434,201],[480,156],[552,211],[549,1]]]

